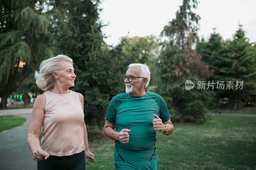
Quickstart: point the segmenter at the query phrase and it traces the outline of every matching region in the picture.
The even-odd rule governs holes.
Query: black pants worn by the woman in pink
[[[85,170],[84,151],[70,156],[52,156],[37,161],[37,170]]]

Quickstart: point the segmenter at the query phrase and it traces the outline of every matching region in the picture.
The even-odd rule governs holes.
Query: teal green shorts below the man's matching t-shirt
[[[116,170],[158,170],[159,159],[143,162],[115,162]]]

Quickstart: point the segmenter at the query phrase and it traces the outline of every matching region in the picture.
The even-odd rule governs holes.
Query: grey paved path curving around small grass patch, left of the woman
[[[0,115],[19,115],[28,119],[26,124],[0,133],[1,170],[37,169],[36,161],[32,158],[26,139],[31,113],[32,109],[0,110]]]

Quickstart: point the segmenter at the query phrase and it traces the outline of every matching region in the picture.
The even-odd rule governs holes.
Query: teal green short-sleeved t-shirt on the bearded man
[[[156,114],[163,122],[171,118],[163,98],[153,92],[140,97],[133,97],[124,92],[115,96],[108,105],[105,119],[116,124],[116,131],[130,129],[129,142],[121,144],[115,141],[117,147],[132,151],[156,148],[156,131],[153,119]]]

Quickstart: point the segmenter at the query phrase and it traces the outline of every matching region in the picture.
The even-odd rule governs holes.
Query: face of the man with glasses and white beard
[[[132,77],[140,77],[141,69],[140,67],[134,66],[130,67],[126,71],[126,76],[132,76]],[[142,88],[142,79],[140,78],[132,78],[132,81],[129,82],[126,78],[124,80],[125,83],[125,92],[127,93],[133,93],[136,92],[138,89]]]

